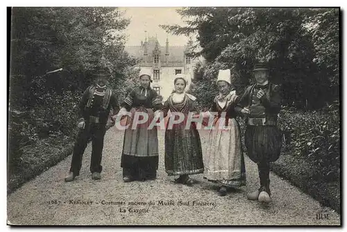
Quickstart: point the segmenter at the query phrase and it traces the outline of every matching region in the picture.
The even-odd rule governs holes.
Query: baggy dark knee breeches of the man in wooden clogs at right
[[[248,157],[255,163],[275,162],[280,157],[282,137],[276,126],[247,126],[244,140]]]

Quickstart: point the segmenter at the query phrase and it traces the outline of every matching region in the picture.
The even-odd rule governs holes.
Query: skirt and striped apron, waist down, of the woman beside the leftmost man
[[[128,118],[128,129],[124,133],[121,167],[123,176],[133,179],[155,179],[158,169],[158,131],[157,127],[148,129],[154,113],[151,109],[132,108],[130,113],[146,112],[149,120],[133,129],[133,119]]]

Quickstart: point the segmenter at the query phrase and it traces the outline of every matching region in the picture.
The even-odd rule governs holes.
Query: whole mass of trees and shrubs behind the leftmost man
[[[117,8],[12,8],[11,22],[10,172],[42,141],[74,137],[78,101],[99,69],[119,90],[135,65],[124,50],[130,21]]]

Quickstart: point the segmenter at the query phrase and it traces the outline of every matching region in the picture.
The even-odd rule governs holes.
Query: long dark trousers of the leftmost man
[[[106,126],[99,123],[85,123],[85,129],[80,129],[74,145],[74,154],[72,155],[70,172],[75,176],[80,174],[82,167],[82,157],[87,147],[87,142],[92,138],[92,158],[90,161],[90,172],[101,173],[101,158],[103,152],[103,138],[105,137]]]

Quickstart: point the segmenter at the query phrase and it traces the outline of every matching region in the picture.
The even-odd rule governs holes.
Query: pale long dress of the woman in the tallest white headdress
[[[218,115],[214,117],[208,146],[205,149],[204,179],[230,188],[246,185],[241,133],[234,110],[237,99],[235,92],[226,97],[224,105],[218,96],[214,98],[211,111],[217,112]],[[222,113],[226,113],[223,119],[225,121],[222,121]],[[228,129],[221,129],[221,126]]]

